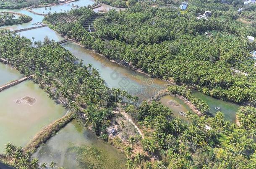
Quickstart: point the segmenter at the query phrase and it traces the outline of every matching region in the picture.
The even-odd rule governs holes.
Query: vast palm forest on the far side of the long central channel
[[[236,20],[236,10],[216,10],[208,20],[196,19],[204,10],[191,5],[181,14],[137,3],[125,11],[110,10],[95,21],[95,33],[87,33],[79,22],[55,26],[86,48],[151,76],[196,85],[222,100],[255,105],[256,70],[250,52],[256,42],[246,38],[255,36],[255,28]]]

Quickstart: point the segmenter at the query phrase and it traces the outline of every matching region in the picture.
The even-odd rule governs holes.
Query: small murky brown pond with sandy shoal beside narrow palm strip
[[[191,111],[193,113],[193,110],[188,107],[182,100],[180,100],[177,97],[173,97],[170,95],[163,96],[159,100],[163,105],[169,107],[173,111],[173,117],[180,117],[180,119],[183,119],[184,121],[187,121],[188,119],[182,115],[179,114],[179,112],[183,111],[186,113],[187,111]]]

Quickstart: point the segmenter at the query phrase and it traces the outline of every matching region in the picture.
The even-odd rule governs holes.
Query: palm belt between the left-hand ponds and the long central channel
[[[47,41],[42,47],[34,48],[31,40],[2,30],[0,44],[0,58],[8,60],[26,76],[32,76],[50,98],[59,99],[76,114],[86,114],[91,120],[87,123],[107,126],[113,96],[95,68],[83,66],[55,42]],[[95,132],[100,134],[104,129],[95,127]]]

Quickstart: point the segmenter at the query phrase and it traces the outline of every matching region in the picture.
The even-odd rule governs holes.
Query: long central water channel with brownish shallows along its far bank
[[[151,98],[167,86],[165,81],[150,78],[143,73],[120,66],[76,43],[70,43],[64,47],[82,59],[85,65],[90,63],[94,68],[97,68],[109,87],[126,90],[128,93],[138,96],[140,101]]]

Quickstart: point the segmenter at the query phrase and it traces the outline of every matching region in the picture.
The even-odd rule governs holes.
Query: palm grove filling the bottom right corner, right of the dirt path
[[[255,113],[255,110],[254,110]],[[225,121],[221,112],[214,117],[188,115],[188,124],[171,117],[160,103],[143,102],[136,111],[139,124],[151,129],[141,141],[144,151],[154,156],[152,168],[247,168],[256,167],[255,127]],[[253,120],[253,117],[250,117]],[[209,129],[206,129],[206,125]],[[253,122],[255,125],[255,121]],[[135,156],[132,155],[134,163]],[[131,162],[131,161],[130,161]],[[132,162],[131,162],[132,163]],[[137,163],[138,164],[138,163]]]

